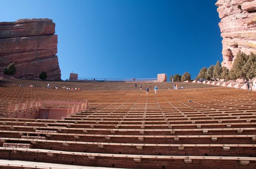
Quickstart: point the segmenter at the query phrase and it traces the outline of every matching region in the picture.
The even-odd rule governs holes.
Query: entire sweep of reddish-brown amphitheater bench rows
[[[81,90],[6,79],[0,85],[1,113],[9,101],[39,98],[87,99],[88,109],[62,120],[0,118],[1,159],[145,169],[256,166],[253,91],[212,82],[177,83],[182,90],[173,90],[173,83],[141,82],[150,89],[146,95],[134,82],[51,83]]]

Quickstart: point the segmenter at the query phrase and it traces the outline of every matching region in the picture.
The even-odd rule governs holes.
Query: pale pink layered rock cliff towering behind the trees
[[[256,54],[256,0],[218,0],[223,37],[222,66],[232,68],[236,54]]]

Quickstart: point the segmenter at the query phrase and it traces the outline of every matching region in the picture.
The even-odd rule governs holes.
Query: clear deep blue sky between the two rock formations
[[[56,23],[61,79],[154,78],[222,61],[217,0],[0,0],[0,22]]]

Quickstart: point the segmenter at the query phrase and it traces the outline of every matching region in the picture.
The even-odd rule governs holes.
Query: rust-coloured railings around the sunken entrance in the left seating
[[[72,104],[65,104],[71,101],[44,101],[44,100],[27,100],[26,102],[9,102],[7,117],[9,115],[26,112],[27,110],[38,110],[40,108],[65,108],[67,109],[67,116],[79,111],[86,110],[88,101],[72,101]],[[54,103],[54,104],[53,104]]]

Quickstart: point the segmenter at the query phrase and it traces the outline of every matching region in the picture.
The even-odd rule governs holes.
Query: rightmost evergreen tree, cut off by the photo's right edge
[[[251,53],[249,55],[249,59],[242,69],[247,79],[253,79],[256,76],[256,54]]]

